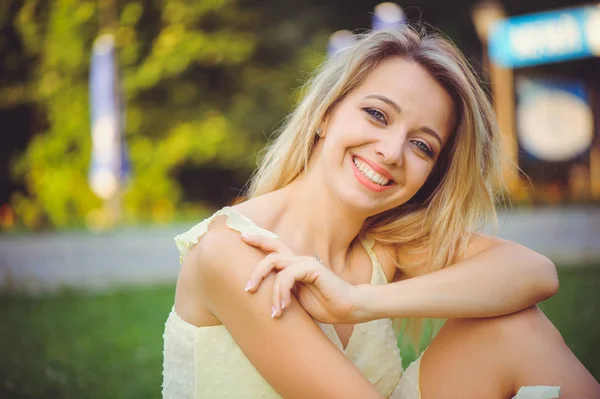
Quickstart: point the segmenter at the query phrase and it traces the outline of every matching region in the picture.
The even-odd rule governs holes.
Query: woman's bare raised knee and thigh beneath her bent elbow
[[[535,306],[448,320],[423,354],[419,377],[422,399],[512,398],[535,385],[560,386],[561,398],[600,397],[600,385]]]

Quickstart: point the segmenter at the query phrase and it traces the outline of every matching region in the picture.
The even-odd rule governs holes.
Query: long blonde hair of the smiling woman
[[[319,124],[392,57],[417,62],[445,88],[454,102],[456,128],[419,192],[369,218],[361,234],[424,253],[428,270],[435,271],[456,261],[483,223],[495,221],[495,196],[503,188],[500,136],[490,102],[464,56],[439,34],[408,26],[367,32],[328,58],[304,85],[304,98],[265,150],[248,194],[284,187],[306,170]]]

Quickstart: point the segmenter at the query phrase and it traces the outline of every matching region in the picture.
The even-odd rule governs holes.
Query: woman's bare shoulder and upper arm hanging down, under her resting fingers
[[[183,268],[198,271],[202,301],[233,336],[246,357],[285,398],[380,398],[377,390],[294,300],[274,320],[271,291],[249,296],[244,287],[263,254],[239,234],[213,223],[186,256]]]

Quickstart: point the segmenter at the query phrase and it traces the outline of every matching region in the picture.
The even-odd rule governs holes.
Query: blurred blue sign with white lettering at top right
[[[489,37],[490,58],[519,68],[600,55],[600,6],[508,18]]]

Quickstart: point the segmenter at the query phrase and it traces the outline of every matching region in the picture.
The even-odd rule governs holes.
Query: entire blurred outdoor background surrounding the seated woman
[[[497,234],[555,261],[542,308],[599,378],[598,4],[2,0],[0,397],[159,397],[172,237],[240,199],[328,53],[415,21],[490,93]]]

